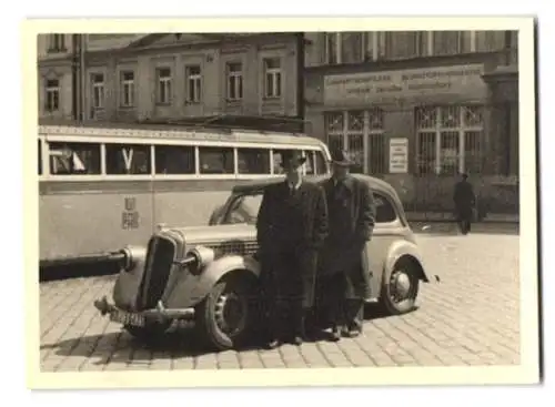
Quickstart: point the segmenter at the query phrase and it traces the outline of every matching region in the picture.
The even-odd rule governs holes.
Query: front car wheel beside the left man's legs
[[[254,288],[250,276],[230,275],[218,282],[200,303],[195,313],[200,334],[216,349],[238,348],[250,338],[258,319]],[[230,308],[235,312],[231,317],[225,315]]]

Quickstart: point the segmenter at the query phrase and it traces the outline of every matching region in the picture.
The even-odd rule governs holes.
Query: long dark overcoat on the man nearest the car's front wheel
[[[301,213],[295,220],[287,217],[292,199]],[[272,288],[270,295],[301,296],[303,306],[313,305],[317,255],[327,228],[326,201],[320,185],[304,181],[294,197],[286,182],[266,186],[256,220],[256,237],[261,279],[263,286]],[[290,258],[284,258],[284,252]]]

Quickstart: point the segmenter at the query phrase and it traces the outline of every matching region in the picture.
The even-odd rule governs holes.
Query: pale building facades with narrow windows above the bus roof
[[[39,38],[42,119],[71,119],[75,93],[84,120],[299,113],[294,33],[79,35],[81,85],[74,37]]]

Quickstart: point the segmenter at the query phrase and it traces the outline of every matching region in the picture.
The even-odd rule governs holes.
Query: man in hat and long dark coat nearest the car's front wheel
[[[286,179],[265,189],[256,220],[270,348],[284,342],[300,345],[306,338],[317,254],[327,235],[324,192],[303,181],[305,161],[296,151],[282,154]]]

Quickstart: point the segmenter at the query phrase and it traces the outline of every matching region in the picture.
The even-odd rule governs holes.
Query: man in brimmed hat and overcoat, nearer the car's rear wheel
[[[330,234],[323,247],[320,273],[332,340],[362,333],[364,299],[370,297],[366,242],[374,228],[371,189],[349,173],[352,161],[343,151],[332,156],[333,175],[323,182]]]

